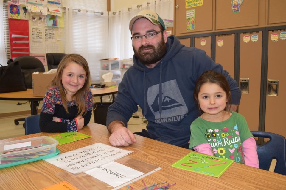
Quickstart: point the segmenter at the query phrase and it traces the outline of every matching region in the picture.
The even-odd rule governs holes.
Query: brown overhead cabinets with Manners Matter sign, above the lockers
[[[237,4],[232,4],[232,0],[175,0],[175,36],[286,24],[285,0],[235,2]]]

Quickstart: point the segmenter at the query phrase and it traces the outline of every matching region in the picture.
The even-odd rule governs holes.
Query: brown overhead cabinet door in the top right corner
[[[285,12],[285,0],[268,0],[268,24],[286,23]]]

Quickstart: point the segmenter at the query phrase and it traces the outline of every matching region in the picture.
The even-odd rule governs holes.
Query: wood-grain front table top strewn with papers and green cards
[[[63,153],[98,142],[110,145],[108,140],[110,134],[107,131],[106,126],[100,124],[88,124],[88,126],[85,126],[80,130],[80,133],[88,134],[92,137],[75,141],[73,143],[57,145],[57,148]],[[0,140],[0,143],[29,137],[51,136],[54,134],[57,133],[30,134],[27,136]],[[220,178],[171,167],[171,164],[175,163],[191,151],[138,135],[136,135],[136,139],[137,142],[135,144],[129,147],[118,148],[133,151],[127,155],[130,158],[161,167],[161,170],[142,178],[147,185],[167,181],[167,183],[170,184],[176,183],[176,185],[171,187],[170,190],[286,189],[285,175],[260,170],[243,164],[231,164],[229,169],[226,170]],[[41,189],[48,187],[63,181],[63,179],[57,177],[57,173],[62,171],[62,169],[49,164],[44,160],[3,168],[0,169],[0,189]],[[143,188],[144,185],[141,181],[142,179],[131,183],[130,186],[134,189]],[[73,183],[73,181],[69,182]],[[80,190],[88,189],[80,182],[73,185]],[[96,189],[96,184],[94,184],[94,189]],[[127,186],[121,189],[126,190]]]

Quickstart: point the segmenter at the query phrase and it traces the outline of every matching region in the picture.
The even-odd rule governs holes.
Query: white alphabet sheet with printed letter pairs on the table
[[[126,151],[102,143],[59,154],[45,161],[73,174],[106,164],[130,154]]]

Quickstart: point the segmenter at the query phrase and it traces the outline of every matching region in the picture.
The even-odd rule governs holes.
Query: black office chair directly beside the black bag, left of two
[[[32,56],[17,57],[15,58],[14,61],[18,61],[21,66],[21,71],[24,75],[26,88],[32,89],[33,88],[32,73],[33,72],[45,72],[45,67],[43,66],[43,63],[39,59],[32,57]],[[25,118],[15,119],[14,123],[18,125],[19,121],[25,121]],[[24,124],[23,124],[23,127],[25,127]]]

